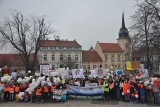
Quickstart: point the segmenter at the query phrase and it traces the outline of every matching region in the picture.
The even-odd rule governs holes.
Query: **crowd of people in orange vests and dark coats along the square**
[[[18,82],[17,79],[11,79],[10,82],[0,82],[4,84],[3,98],[1,100],[20,101],[20,102],[49,102],[53,101],[55,90],[66,90],[67,85],[85,86],[86,82],[97,83],[98,86],[104,87],[104,97],[106,101],[122,100],[130,103],[140,102],[160,104],[160,79],[150,77],[147,79],[136,79],[134,76],[109,75],[103,78],[66,78],[60,77],[58,83],[54,82],[53,77],[43,76],[46,81],[44,84],[38,84],[33,91],[26,91],[33,79],[38,80],[39,77],[32,77],[27,82]],[[47,79],[49,78],[49,83]],[[23,78],[22,78],[23,79]],[[35,82],[36,83],[36,82]],[[2,92],[1,92],[2,94]],[[23,97],[21,97],[23,96]]]

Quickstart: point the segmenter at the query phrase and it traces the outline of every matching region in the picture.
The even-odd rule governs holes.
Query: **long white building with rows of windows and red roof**
[[[40,65],[52,65],[52,70],[82,67],[82,47],[77,41],[43,40],[43,42],[38,54]]]

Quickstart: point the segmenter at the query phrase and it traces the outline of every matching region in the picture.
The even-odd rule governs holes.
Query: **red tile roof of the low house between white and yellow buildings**
[[[94,50],[83,50],[82,51],[83,62],[102,62],[99,54]]]

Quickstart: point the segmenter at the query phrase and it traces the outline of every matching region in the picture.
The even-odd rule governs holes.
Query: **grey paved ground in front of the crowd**
[[[0,107],[160,107],[155,104],[131,104],[123,101],[103,101],[92,99],[69,99],[66,102],[30,103],[30,102],[1,102]]]

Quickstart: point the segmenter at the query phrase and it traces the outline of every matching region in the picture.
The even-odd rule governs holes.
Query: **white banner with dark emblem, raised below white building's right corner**
[[[83,69],[72,69],[72,76],[73,78],[83,78],[84,77]]]

